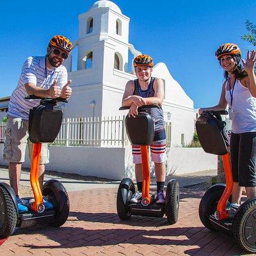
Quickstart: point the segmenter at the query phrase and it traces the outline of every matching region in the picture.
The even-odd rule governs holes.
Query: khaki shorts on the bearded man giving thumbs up
[[[27,143],[29,158],[31,159],[33,143],[29,141],[28,120],[8,116],[3,159],[10,163],[23,163],[25,161]],[[47,143],[42,143],[40,164],[47,163],[49,163],[49,148]]]

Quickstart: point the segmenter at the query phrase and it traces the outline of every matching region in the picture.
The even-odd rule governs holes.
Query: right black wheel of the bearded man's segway
[[[66,189],[58,180],[47,180],[43,186],[43,195],[47,196],[56,211],[56,218],[50,225],[52,227],[62,226],[67,221],[69,214],[69,199]]]

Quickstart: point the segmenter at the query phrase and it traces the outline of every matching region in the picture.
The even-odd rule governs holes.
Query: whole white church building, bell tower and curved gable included
[[[122,116],[119,111],[125,84],[136,79],[128,72],[129,51],[141,54],[129,44],[129,17],[113,2],[95,2],[88,12],[79,15],[79,38],[65,61],[72,79],[72,97],[64,108],[65,118]],[[150,52],[143,52],[149,54]],[[173,79],[164,63],[155,63],[152,76],[164,81],[164,119],[172,122],[172,144],[190,143],[195,131],[193,100]],[[130,66],[130,67],[129,67]],[[76,70],[75,70],[76,69]]]

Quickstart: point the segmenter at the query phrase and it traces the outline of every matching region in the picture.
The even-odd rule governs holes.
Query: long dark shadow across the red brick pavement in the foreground
[[[241,250],[235,246],[235,242],[225,234],[211,232],[203,227],[168,227],[161,230],[145,230],[141,228],[99,228],[89,230],[81,227],[61,227],[45,228],[40,230],[28,230],[26,235],[38,232],[41,235],[59,243],[58,245],[24,244],[24,247],[31,249],[52,248],[78,248],[82,246],[113,246],[116,244],[129,243],[132,246],[136,244],[164,245],[164,246],[188,246],[184,253],[194,255],[205,247],[205,241],[214,241],[214,243],[228,244],[229,248],[234,247],[236,252]],[[75,235],[76,234],[76,235]],[[191,248],[189,248],[191,246]],[[216,246],[218,248],[218,246]],[[204,255],[208,255],[206,252]],[[229,253],[225,254],[232,255]],[[236,254],[239,255],[239,254]]]

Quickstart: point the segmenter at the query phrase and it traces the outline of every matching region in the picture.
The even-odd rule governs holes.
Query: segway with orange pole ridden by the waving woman
[[[241,204],[234,215],[227,210],[234,186],[228,137],[225,122],[221,120],[221,115],[227,114],[227,111],[205,111],[196,120],[196,131],[204,151],[222,156],[226,177],[226,184],[216,184],[205,192],[199,205],[199,216],[205,227],[233,236],[243,250],[255,253],[256,197]]]

